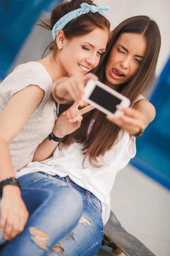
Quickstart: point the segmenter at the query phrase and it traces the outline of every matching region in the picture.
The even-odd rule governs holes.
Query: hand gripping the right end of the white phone
[[[113,122],[113,124],[118,125],[131,135],[135,135],[139,133],[141,129],[146,128],[144,114],[134,108],[123,108],[120,105],[117,105],[116,108],[123,111],[124,115],[116,116],[116,118],[106,116],[106,118]]]

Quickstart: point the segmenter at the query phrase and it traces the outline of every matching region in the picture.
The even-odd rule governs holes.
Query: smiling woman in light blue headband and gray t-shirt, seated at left
[[[51,44],[50,54],[43,60],[16,67],[0,84],[1,243],[22,232],[28,220],[28,212],[30,215],[22,233],[24,240],[18,236],[19,241],[9,243],[5,255],[20,256],[24,253],[26,256],[32,251],[37,256],[44,255],[47,244],[49,249],[53,247],[74,228],[81,216],[81,196],[71,186],[46,177],[40,181],[41,185],[34,180],[36,192],[31,186],[30,189],[22,188],[20,192],[20,184],[15,175],[32,161],[38,145],[61,123],[56,122],[54,126],[57,116],[55,102],[51,97],[53,82],[68,74],[83,76],[99,63],[111,38],[110,23],[102,12],[107,9],[95,6],[90,0],[72,0],[57,5],[51,14],[51,30],[54,28],[55,42]],[[82,68],[82,65],[85,67]],[[82,81],[85,83],[90,78],[96,79],[96,76],[88,74]],[[85,108],[82,113],[90,110],[91,107]],[[66,133],[75,131],[81,119],[80,116],[75,123],[71,123],[65,129]],[[71,206],[75,207],[72,209]],[[64,210],[67,214],[63,213]],[[55,219],[56,212],[60,216],[58,220]],[[48,235],[43,237],[43,241],[47,243],[43,244],[39,240],[41,246],[37,246],[35,241],[38,241],[39,234],[36,236],[36,230],[29,229],[30,224],[31,227],[37,224],[39,230],[46,228],[44,232]]]

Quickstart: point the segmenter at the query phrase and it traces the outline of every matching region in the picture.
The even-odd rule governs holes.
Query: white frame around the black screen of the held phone
[[[91,105],[93,105],[95,108],[97,108],[98,110],[102,111],[103,113],[105,113],[108,116],[112,116],[112,117],[116,117],[117,115],[121,116],[123,115],[123,111],[121,110],[116,110],[115,113],[112,113],[110,111],[108,111],[107,109],[103,108],[102,106],[100,106],[99,104],[93,102],[91,99],[89,99],[89,96],[91,95],[91,93],[93,92],[94,88],[97,86],[101,87],[103,90],[108,91],[108,93],[111,93],[113,96],[117,97],[118,99],[121,99],[122,102],[120,103],[120,105],[122,107],[129,107],[130,106],[130,100],[128,98],[126,98],[125,96],[123,96],[122,94],[116,92],[115,90],[111,89],[110,87],[108,87],[105,84],[102,84],[100,81],[94,81],[93,79],[90,79],[86,86],[85,86],[85,93],[83,96],[83,100]]]

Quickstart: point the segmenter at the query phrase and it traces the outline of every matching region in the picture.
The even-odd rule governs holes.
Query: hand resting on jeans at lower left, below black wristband
[[[27,220],[28,211],[21,198],[20,188],[14,185],[4,186],[0,201],[0,231],[4,232],[4,239],[11,241],[20,234]]]

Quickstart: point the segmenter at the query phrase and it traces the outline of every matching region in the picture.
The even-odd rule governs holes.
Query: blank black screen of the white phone
[[[111,113],[115,113],[116,105],[119,105],[122,102],[121,99],[118,99],[113,94],[108,93],[97,85],[91,93],[89,99],[107,109]]]

